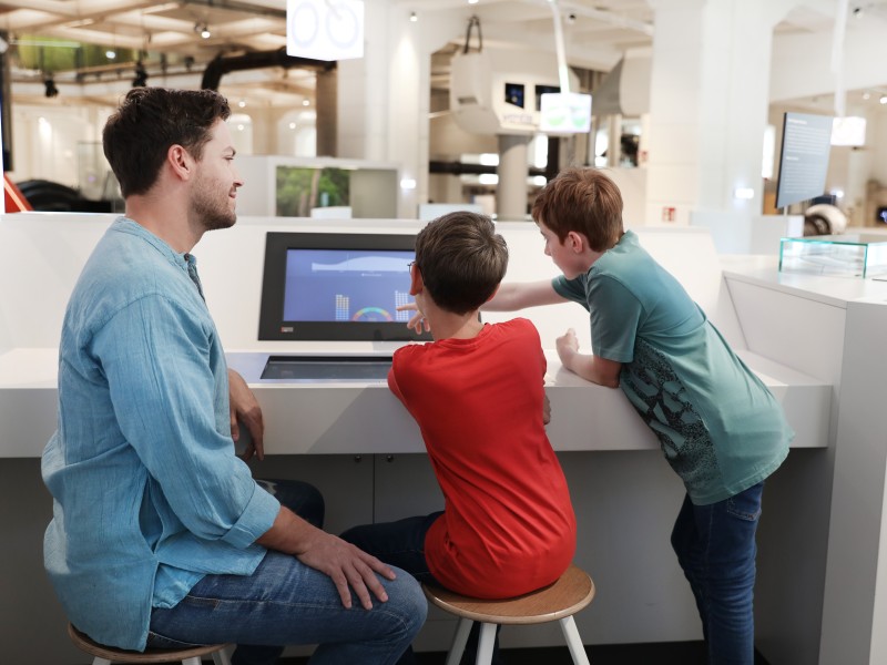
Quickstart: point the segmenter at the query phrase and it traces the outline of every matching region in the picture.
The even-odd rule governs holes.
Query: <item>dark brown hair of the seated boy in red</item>
[[[449,213],[416,236],[416,266],[438,307],[466,314],[496,293],[508,267],[508,246],[486,215]]]

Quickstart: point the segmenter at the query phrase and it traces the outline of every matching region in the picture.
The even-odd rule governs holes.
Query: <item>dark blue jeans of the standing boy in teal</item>
[[[677,514],[672,548],[690,582],[702,618],[708,665],[753,665],[755,532],[761,516],[759,482],[725,501]]]

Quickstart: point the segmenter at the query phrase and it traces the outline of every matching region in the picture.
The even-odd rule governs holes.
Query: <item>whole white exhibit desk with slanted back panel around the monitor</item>
[[[70,215],[0,217],[0,457],[8,458],[0,462],[0,488],[10,492],[0,495],[0,504],[18,504],[14,513],[10,511],[12,521],[20,511],[38,505],[27,520],[33,533],[21,536],[27,552],[14,561],[0,552],[0,565],[30,570],[23,580],[42,576],[39,534],[48,521],[48,498],[38,478],[37,458],[55,426],[55,362],[62,313],[80,266],[110,221]],[[324,221],[322,229],[367,229],[367,224]],[[371,225],[384,233],[412,233],[418,227],[415,222],[397,221]],[[312,345],[255,339],[264,234],[282,228],[320,227],[305,219],[246,218],[233,229],[207,234],[195,248],[207,304],[231,365],[247,377],[265,412],[271,457],[256,466],[257,472],[300,477],[318,484],[327,497],[328,525],[334,531],[370,519],[395,519],[439,508],[439,491],[421,454],[418,430],[383,381],[284,386],[257,379],[255,368],[264,365],[265,355],[304,350]],[[511,250],[507,279],[540,279],[555,274],[542,255],[533,225],[501,224],[499,228]],[[815,280],[774,278],[769,266],[758,273],[754,267],[745,266],[747,273],[734,267],[722,276],[704,232],[636,231],[641,242],[682,280],[773,390],[797,432],[793,453],[765,493],[758,646],[774,665],[817,663],[817,635],[824,613],[830,612],[824,607],[832,510],[827,490],[839,441],[840,393],[836,386],[840,383],[844,357],[835,349],[843,348],[845,319],[853,309],[853,298],[859,295],[854,289],[860,285],[839,284],[834,288],[844,287],[846,293],[820,294]],[[33,274],[43,277],[39,283],[26,278]],[[870,287],[866,293],[870,297],[887,294],[887,285],[863,286]],[[878,290],[881,287],[884,290]],[[488,319],[509,316],[490,315]],[[544,346],[553,347],[554,337],[568,327],[577,329],[580,345],[590,346],[588,315],[578,306],[536,308],[522,316],[537,324]],[[798,329],[822,332],[817,350],[799,344]],[[335,348],[385,350],[356,342]],[[667,544],[683,499],[680,481],[620,391],[587,383],[564,371],[552,351],[547,357],[547,392],[552,406],[549,436],[559,451],[579,516],[577,561],[592,572],[601,589],[599,598],[578,618],[583,637],[590,643],[700,638],[692,596]],[[805,507],[803,512],[798,504]],[[875,532],[880,533],[880,529]],[[797,557],[805,565],[793,566]],[[34,597],[30,582],[14,585],[0,598],[0,614],[9,620],[10,627],[4,653],[14,658],[28,626],[52,626],[52,637],[42,641],[43,659],[75,663],[77,655],[64,638],[63,617],[48,587],[42,593],[37,597],[43,602],[33,611],[27,610],[33,601],[23,602],[26,596]],[[798,608],[797,598],[804,593],[809,602]],[[783,601],[791,603],[788,620],[779,604]],[[434,623],[424,631],[420,648],[445,648],[449,628],[436,630]],[[503,643],[538,646],[560,644],[561,638],[540,627],[506,634]],[[786,659],[785,654],[792,655]]]

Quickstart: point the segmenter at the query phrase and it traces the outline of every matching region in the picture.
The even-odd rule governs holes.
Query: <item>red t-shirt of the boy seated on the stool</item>
[[[520,595],[573,559],[575,515],[542,422],[544,372],[523,318],[394,356],[388,386],[418,422],[445,498],[425,556],[452,591]]]

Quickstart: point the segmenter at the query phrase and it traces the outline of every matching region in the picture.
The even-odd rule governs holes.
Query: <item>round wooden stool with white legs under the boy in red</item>
[[[425,584],[422,591],[435,605],[460,617],[446,665],[459,665],[468,633],[476,621],[481,622],[477,665],[489,665],[492,661],[497,624],[538,624],[555,620],[561,624],[573,663],[589,665],[573,614],[591,603],[594,597],[594,582],[580,567],[570,565],[554,584],[504,601],[472,598]]]

